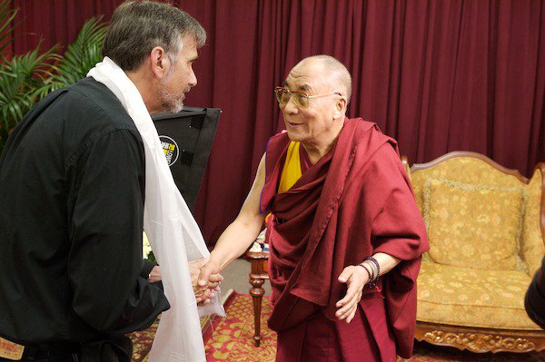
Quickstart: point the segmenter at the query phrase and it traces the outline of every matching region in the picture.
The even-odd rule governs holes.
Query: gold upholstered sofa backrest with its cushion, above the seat
[[[543,171],[540,164],[529,181],[474,152],[413,165],[411,182],[430,237],[424,259],[533,275],[545,252]]]

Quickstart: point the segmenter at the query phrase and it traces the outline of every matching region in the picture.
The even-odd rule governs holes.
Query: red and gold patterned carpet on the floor
[[[263,298],[262,343],[253,346],[253,301],[247,294],[234,293],[224,303],[226,318],[202,320],[206,360],[233,362],[273,362],[276,353],[276,333],[267,328],[271,315],[268,298]],[[151,348],[157,325],[144,332],[136,332],[134,341],[134,362],[145,362]],[[319,361],[317,361],[319,362]],[[398,362],[545,362],[545,353],[485,353],[475,354],[451,347],[431,346],[416,343],[411,359],[399,358]]]

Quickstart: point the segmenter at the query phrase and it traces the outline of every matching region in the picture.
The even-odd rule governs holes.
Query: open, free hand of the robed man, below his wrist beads
[[[350,266],[342,270],[339,281],[346,283],[346,296],[339,300],[335,305],[339,310],[335,316],[339,319],[346,318],[346,323],[350,323],[356,315],[358,304],[362,299],[363,287],[369,281],[369,274],[359,266]]]

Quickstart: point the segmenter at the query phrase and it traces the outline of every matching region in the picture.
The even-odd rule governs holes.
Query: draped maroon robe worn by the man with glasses
[[[390,358],[392,340],[397,354],[410,357],[416,277],[428,241],[397,143],[372,122],[345,120],[332,151],[278,194],[289,142],[287,133],[280,133],[268,143],[261,199],[262,211],[272,211],[269,327],[279,332],[279,351],[285,350],[281,343],[302,336],[298,326],[319,325],[321,318],[337,321],[335,304],[346,294],[346,285],[337,279],[342,269],[384,252],[402,261],[380,288],[364,289],[355,324],[362,324],[362,338],[376,342],[382,359]],[[342,336],[348,334],[339,328],[340,347],[361,343],[344,343]]]

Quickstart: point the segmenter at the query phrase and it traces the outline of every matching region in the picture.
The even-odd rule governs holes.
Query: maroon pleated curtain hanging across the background
[[[15,53],[67,44],[121,0],[16,1]],[[282,128],[272,88],[303,57],[331,54],[353,77],[349,116],[377,122],[412,162],[481,152],[529,175],[545,161],[545,3],[540,0],[183,0],[208,44],[189,105],[223,109],[195,215],[215,242]],[[75,5],[77,4],[77,5]],[[22,32],[22,33],[21,33]]]

